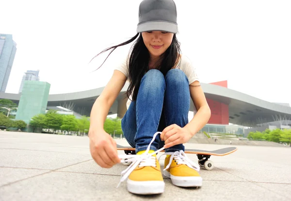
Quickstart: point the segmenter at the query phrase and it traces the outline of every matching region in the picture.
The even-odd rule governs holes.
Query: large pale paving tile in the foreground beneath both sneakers
[[[249,182],[204,181],[201,188],[181,188],[165,180],[165,192],[158,196],[139,196],[127,191],[126,182],[116,188],[120,177],[70,172],[49,172],[0,188],[3,201],[21,200],[264,200],[288,198]]]

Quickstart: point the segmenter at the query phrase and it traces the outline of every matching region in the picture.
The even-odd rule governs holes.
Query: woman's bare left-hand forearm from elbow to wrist
[[[97,131],[104,128],[104,122],[106,120],[110,107],[111,106],[108,101],[97,98],[91,110],[89,130]]]

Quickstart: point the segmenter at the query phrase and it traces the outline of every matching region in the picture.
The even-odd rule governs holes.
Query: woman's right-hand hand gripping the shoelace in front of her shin
[[[163,129],[161,139],[165,141],[164,148],[188,142],[193,135],[187,128],[172,124]]]

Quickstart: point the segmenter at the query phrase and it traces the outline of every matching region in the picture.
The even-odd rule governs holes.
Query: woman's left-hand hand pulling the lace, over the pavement
[[[120,163],[115,140],[104,130],[98,133],[89,131],[90,153],[102,168],[112,168]]]

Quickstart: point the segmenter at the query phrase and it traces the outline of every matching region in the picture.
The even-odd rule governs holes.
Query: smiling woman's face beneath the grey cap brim
[[[165,31],[142,32],[143,40],[152,58],[161,56],[171,45],[174,33]]]

